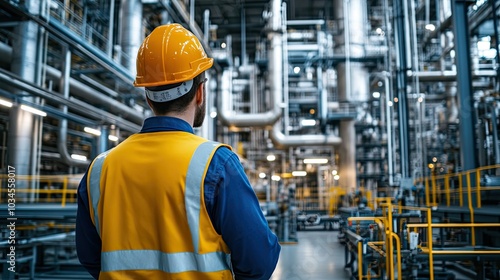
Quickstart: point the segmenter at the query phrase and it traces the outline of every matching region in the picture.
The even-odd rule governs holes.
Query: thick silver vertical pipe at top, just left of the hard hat
[[[139,47],[141,46],[144,32],[142,31],[142,2],[141,0],[129,0],[122,2],[120,7],[122,18],[121,24],[121,46],[124,56],[122,64],[130,73],[135,73],[135,61]]]

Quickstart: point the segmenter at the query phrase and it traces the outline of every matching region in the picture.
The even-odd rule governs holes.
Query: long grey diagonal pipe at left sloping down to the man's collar
[[[130,132],[137,132],[140,130],[140,126],[138,126],[135,123],[131,123],[127,120],[122,119],[121,117],[110,114],[105,110],[98,109],[81,100],[72,97],[70,97],[69,100],[65,99],[59,95],[54,94],[53,92],[47,91],[32,83],[22,80],[19,77],[16,77],[12,73],[9,73],[3,69],[0,69],[0,81],[2,81],[2,85],[10,85],[17,89],[50,100],[52,102],[61,105],[67,105],[69,109],[72,109],[75,112],[90,117],[94,120],[97,119],[103,122],[115,124]]]

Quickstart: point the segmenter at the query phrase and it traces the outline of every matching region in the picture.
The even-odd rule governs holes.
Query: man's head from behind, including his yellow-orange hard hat
[[[213,65],[196,36],[180,24],[156,27],[137,53],[134,86],[145,87],[156,115],[182,112]]]

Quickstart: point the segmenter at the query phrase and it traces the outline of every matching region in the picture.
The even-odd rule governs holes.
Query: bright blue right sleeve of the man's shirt
[[[217,181],[205,181],[205,194],[209,192],[205,200],[211,200],[207,203],[210,218],[231,250],[235,279],[269,279],[281,251],[278,238],[270,230],[236,154],[221,148],[214,158],[209,174]]]

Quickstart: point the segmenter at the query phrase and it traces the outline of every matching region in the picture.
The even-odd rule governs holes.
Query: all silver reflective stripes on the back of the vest
[[[159,250],[118,250],[102,252],[101,271],[160,270],[167,273],[187,271],[215,272],[229,270],[230,254],[213,252],[198,254],[200,234],[201,186],[205,168],[211,155],[219,146],[216,142],[204,142],[195,150],[186,174],[185,205],[194,252],[164,253]],[[89,174],[89,191],[94,209],[94,221],[99,230],[98,203],[101,195],[102,166],[109,151],[99,155]]]

